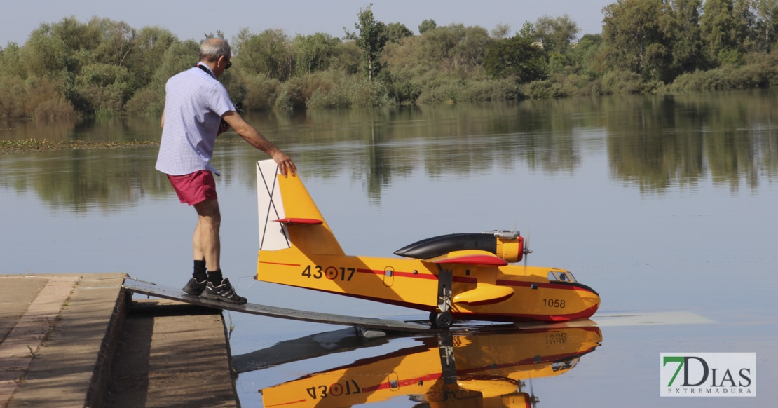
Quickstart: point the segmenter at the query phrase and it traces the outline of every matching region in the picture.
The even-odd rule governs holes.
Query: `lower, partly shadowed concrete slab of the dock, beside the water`
[[[240,406],[219,310],[167,300],[131,305],[106,406]]]

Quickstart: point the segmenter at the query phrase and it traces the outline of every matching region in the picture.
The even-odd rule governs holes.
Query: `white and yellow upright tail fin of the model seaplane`
[[[274,160],[257,162],[259,249],[345,255],[298,175],[284,177]]]

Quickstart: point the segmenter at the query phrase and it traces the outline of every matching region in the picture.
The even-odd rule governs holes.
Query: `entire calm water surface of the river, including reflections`
[[[363,342],[337,326],[230,313],[233,356],[244,364],[242,405],[272,405],[281,395],[315,396],[320,406],[434,405],[443,396],[447,406],[510,406],[526,398],[516,381],[534,378],[523,392],[546,407],[776,406],[776,97],[250,116],[296,160],[349,254],[390,256],[425,237],[517,228],[529,237],[531,264],[571,269],[599,291],[598,314],[689,311],[713,322]],[[159,128],[156,120],[108,121],[0,132],[30,137],[153,140]],[[425,318],[253,280],[254,162],[265,157],[236,139],[223,137],[213,162],[223,171],[223,269],[240,294],[289,308]],[[126,272],[182,286],[191,273],[195,212],[178,204],[155,160],[155,147],[0,157],[5,273]],[[458,388],[443,381],[440,344],[454,346]],[[757,397],[661,398],[662,352],[755,352]],[[352,381],[363,383],[360,390],[370,382],[399,389],[357,395]]]

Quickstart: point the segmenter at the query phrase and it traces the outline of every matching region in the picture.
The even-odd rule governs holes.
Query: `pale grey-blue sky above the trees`
[[[282,29],[295,34],[329,33],[343,37],[346,27],[355,31],[360,9],[371,0],[23,0],[13,2],[0,12],[0,47],[9,42],[23,45],[40,23],[56,23],[75,16],[86,23],[93,16],[124,21],[135,29],[160,26],[181,40],[202,40],[205,33],[221,30],[230,40],[241,28],[252,33]],[[525,21],[541,16],[570,16],[585,33],[601,33],[602,8],[615,0],[372,0],[373,15],[384,23],[403,23],[419,33],[419,23],[433,19],[438,26],[463,23],[492,30],[497,24],[508,24],[510,34],[521,29]]]

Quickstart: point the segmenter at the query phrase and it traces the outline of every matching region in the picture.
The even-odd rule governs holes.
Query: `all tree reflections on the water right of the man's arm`
[[[419,170],[433,178],[518,166],[572,173],[584,149],[601,149],[601,139],[611,177],[641,191],[694,188],[707,178],[738,191],[758,188],[760,175],[778,170],[773,95],[568,98],[255,119],[260,127],[267,121],[269,136],[295,149],[313,177],[348,171],[371,199],[393,178]]]

